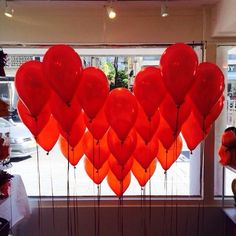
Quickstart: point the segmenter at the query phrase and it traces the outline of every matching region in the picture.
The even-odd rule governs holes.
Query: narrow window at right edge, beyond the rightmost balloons
[[[236,47],[219,46],[217,48],[217,63],[225,76],[225,107],[216,122],[215,138],[215,196],[232,196],[231,182],[235,173],[223,168],[219,162],[218,150],[221,135],[230,126],[236,126]],[[222,180],[224,183],[222,183]]]

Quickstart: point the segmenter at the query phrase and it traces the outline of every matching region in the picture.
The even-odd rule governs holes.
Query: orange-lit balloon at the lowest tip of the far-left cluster
[[[58,138],[59,138],[59,129],[57,121],[53,118],[53,116],[51,116],[46,126],[37,136],[36,142],[45,151],[49,152],[56,144]]]

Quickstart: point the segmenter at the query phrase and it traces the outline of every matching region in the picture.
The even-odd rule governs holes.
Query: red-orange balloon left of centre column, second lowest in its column
[[[84,134],[82,145],[84,154],[97,170],[102,167],[110,156],[110,151],[107,145],[107,135],[100,140],[96,140],[88,131]]]

